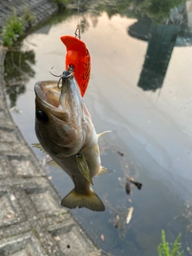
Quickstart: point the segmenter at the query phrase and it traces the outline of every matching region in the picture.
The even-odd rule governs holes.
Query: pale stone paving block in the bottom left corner
[[[1,256],[47,256],[32,232],[4,239],[0,242]]]

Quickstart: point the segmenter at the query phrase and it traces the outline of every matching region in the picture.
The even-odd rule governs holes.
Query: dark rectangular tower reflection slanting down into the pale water
[[[138,86],[143,90],[162,87],[179,31],[180,25],[151,26],[146,58],[138,81]]]

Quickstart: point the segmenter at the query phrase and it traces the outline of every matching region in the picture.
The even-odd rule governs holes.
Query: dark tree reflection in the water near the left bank
[[[6,93],[10,97],[10,105],[15,106],[18,95],[26,91],[26,82],[34,77],[31,65],[35,64],[33,50],[21,50],[18,47],[6,53],[5,82]]]

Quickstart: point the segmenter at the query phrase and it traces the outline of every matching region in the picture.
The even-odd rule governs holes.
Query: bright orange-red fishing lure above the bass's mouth
[[[66,70],[69,66],[74,69],[74,77],[78,82],[82,97],[86,92],[90,80],[90,53],[86,44],[70,35],[61,37],[66,46]]]

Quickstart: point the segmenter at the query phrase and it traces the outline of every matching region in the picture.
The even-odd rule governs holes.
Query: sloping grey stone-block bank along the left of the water
[[[101,255],[70,211],[60,206],[60,196],[10,116],[5,54],[0,46],[0,255]]]

